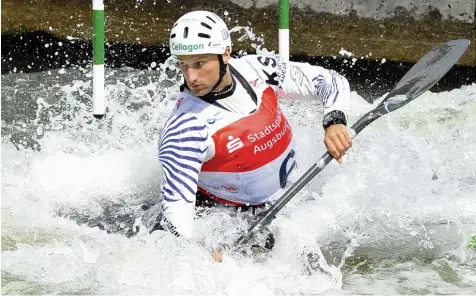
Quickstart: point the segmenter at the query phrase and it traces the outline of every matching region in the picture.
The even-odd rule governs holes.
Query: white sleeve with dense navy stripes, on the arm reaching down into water
[[[163,226],[191,237],[198,175],[208,150],[205,124],[189,113],[173,113],[159,139]]]

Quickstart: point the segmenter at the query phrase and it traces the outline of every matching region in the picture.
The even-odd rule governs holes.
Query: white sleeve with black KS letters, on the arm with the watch
[[[282,95],[290,99],[317,98],[324,106],[324,116],[339,110],[349,117],[349,82],[336,71],[309,63],[287,62],[279,55],[247,55],[243,59],[268,84],[281,88]]]

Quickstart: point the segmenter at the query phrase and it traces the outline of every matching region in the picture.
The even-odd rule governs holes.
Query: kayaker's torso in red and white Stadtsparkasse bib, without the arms
[[[258,205],[280,195],[295,166],[295,145],[274,89],[252,71],[237,68],[256,103],[242,85],[219,100],[225,108],[186,92],[179,100],[181,109],[201,119],[209,134],[198,190],[224,203]]]

